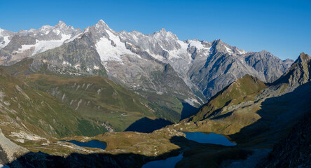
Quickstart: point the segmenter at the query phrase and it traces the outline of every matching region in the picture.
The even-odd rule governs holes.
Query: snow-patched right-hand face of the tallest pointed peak
[[[139,46],[122,41],[122,35],[110,29],[104,21],[99,20],[83,33],[95,44],[94,48],[99,53],[109,78],[135,90],[194,98],[170,64],[159,62]]]

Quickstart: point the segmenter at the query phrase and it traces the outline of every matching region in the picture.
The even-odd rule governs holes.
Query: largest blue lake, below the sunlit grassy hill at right
[[[196,141],[201,144],[217,144],[223,146],[235,146],[235,143],[232,143],[225,136],[221,134],[214,133],[203,133],[203,132],[184,132],[186,138],[192,141]]]

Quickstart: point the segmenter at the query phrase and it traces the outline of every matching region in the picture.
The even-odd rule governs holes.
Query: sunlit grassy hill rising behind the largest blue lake
[[[243,127],[261,118],[256,113],[261,110],[261,104],[254,103],[254,100],[266,87],[258,78],[246,75],[212,97],[194,116],[172,127],[189,132],[240,132]]]

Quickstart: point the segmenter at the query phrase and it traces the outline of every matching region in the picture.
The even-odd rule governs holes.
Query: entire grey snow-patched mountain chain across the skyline
[[[67,45],[65,43],[84,43],[83,46],[75,44],[76,47],[71,48],[62,46],[62,49],[51,50],[43,54],[44,56],[35,57],[36,59],[44,57],[44,61],[57,66],[53,68],[54,70],[73,73],[73,69],[78,69],[74,74],[93,73],[94,70],[104,66],[108,77],[120,84],[134,90],[147,90],[158,94],[179,94],[179,98],[184,99],[184,102],[197,104],[197,106],[235,79],[246,74],[256,76],[263,82],[273,82],[293,62],[290,59],[282,61],[266,51],[246,52],[223,43],[221,40],[180,41],[175,34],[165,29],[156,31],[154,34],[141,34],[139,31],[116,32],[110,29],[104,21],[99,20],[96,25],[87,27],[81,34],[79,29],[67,27],[63,22],[55,27],[43,26],[38,30],[20,31],[14,36],[18,39],[13,38],[10,44],[0,51],[1,64],[11,64],[23,57],[32,57],[46,49],[59,46],[58,44],[49,45],[49,48],[35,49],[34,52],[29,53],[30,49],[22,50],[22,45],[34,45],[38,41],[40,43],[41,36],[45,37],[42,37],[45,41],[48,38],[46,36],[53,36],[53,39],[57,40],[62,38],[61,36],[70,38],[69,40],[62,39],[61,43],[67,40],[64,45]],[[80,48],[82,49],[80,52],[76,51]],[[78,52],[73,55],[74,57],[63,57],[72,50]],[[60,51],[63,53],[57,54]],[[20,53],[13,55],[13,52]],[[89,52],[92,54],[88,55]],[[98,62],[99,59],[100,62]],[[88,64],[85,64],[86,60],[90,60]],[[173,70],[170,77],[163,75],[167,66],[171,66]],[[60,70],[64,67],[73,69]],[[158,80],[158,76],[162,79]],[[176,82],[173,83],[171,81],[173,79]]]

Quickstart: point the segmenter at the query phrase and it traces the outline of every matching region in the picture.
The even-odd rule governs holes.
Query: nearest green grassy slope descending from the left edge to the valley
[[[3,93],[0,116],[8,130],[10,125],[20,125],[33,134],[53,137],[92,136],[104,132],[103,127],[83,118],[49,94],[33,90],[4,69],[0,69],[0,85]]]

